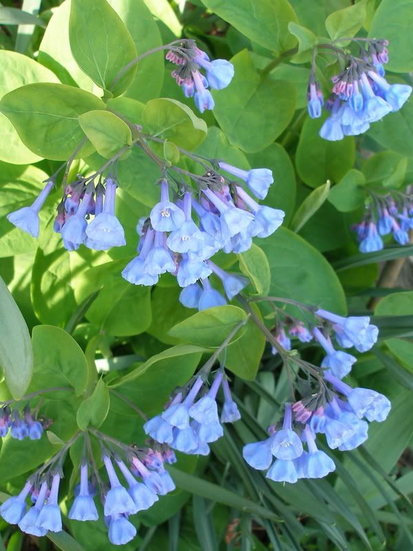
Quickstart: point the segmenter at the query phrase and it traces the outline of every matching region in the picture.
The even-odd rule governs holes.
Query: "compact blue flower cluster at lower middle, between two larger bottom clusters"
[[[220,386],[224,392],[224,405],[219,416],[216,397]],[[206,391],[202,377],[198,376],[189,388],[176,392],[160,415],[145,423],[145,433],[180,452],[208,455],[208,444],[224,434],[222,423],[233,423],[241,416],[223,369],[215,375],[209,391],[196,399],[202,389]]]

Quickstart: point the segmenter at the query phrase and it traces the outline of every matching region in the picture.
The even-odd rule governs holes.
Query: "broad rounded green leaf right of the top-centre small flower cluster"
[[[213,92],[214,115],[233,145],[244,152],[259,152],[273,143],[293,117],[295,86],[263,79],[248,50],[242,50],[231,63],[235,68],[231,85]]]

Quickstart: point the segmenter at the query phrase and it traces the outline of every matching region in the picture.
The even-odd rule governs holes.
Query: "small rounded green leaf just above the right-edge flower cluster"
[[[362,169],[368,183],[399,187],[407,170],[407,158],[391,151],[379,152],[366,160]]]

